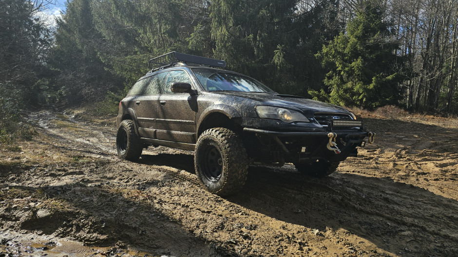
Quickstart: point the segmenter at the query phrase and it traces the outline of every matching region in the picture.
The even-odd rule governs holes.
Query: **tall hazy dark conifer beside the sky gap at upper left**
[[[91,102],[103,98],[108,90],[122,85],[122,79],[111,76],[98,48],[104,46],[102,35],[95,30],[92,0],[67,2],[67,12],[57,22],[55,46],[50,65],[56,70],[53,84],[70,103]]]

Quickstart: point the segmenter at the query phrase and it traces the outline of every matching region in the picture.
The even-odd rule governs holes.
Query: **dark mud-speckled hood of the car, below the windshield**
[[[288,109],[299,109],[306,115],[313,115],[316,112],[350,114],[346,109],[337,105],[323,103],[299,96],[239,91],[218,91],[212,92],[212,94],[233,96],[233,100],[236,102],[237,100],[245,102],[245,104],[247,102],[246,100],[251,100],[252,105],[269,105]]]

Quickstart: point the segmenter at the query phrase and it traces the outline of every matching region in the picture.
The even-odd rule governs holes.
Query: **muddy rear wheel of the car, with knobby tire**
[[[135,134],[133,120],[123,120],[116,134],[116,149],[119,157],[128,161],[136,161],[140,158],[143,146]]]

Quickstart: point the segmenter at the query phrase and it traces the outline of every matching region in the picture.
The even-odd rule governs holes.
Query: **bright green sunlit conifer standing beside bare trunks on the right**
[[[348,23],[347,33],[323,46],[317,57],[324,69],[329,69],[324,79],[327,88],[321,92],[310,90],[312,96],[368,109],[397,103],[402,61],[382,15],[381,7],[363,2],[357,16]]]

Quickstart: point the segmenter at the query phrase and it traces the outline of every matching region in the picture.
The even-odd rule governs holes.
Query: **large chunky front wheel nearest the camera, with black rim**
[[[226,128],[208,129],[200,135],[194,166],[202,186],[218,195],[237,192],[247,180],[245,147],[238,135]]]

